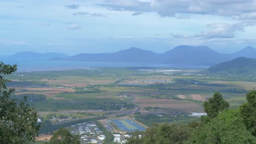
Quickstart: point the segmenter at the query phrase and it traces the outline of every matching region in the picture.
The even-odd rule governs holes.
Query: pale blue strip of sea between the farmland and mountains
[[[166,64],[166,63],[112,63],[112,62],[69,62],[43,59],[9,58],[0,56],[5,64],[18,64],[18,71],[49,71],[68,69],[90,69],[93,67],[159,67],[159,68],[208,68],[211,65]]]

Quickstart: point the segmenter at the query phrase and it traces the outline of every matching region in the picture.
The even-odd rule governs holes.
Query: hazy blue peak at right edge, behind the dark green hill
[[[254,49],[251,46],[247,46],[245,47],[245,49],[232,53],[231,56],[233,58],[236,58],[236,57],[256,58],[256,49]]]

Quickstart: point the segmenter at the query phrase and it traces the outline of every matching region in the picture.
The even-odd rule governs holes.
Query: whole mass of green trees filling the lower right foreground
[[[248,102],[240,109],[229,110],[229,103],[216,92],[204,103],[207,116],[202,117],[202,122],[154,125],[140,133],[141,138],[138,133],[133,134],[127,143],[256,143],[256,91],[249,92],[246,97]]]

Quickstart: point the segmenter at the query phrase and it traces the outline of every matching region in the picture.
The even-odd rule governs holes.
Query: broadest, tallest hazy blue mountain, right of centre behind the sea
[[[229,55],[218,53],[207,46],[181,45],[163,53],[165,63],[216,64],[230,60]]]

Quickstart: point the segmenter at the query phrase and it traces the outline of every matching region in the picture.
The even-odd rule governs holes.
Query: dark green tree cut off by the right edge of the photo
[[[243,121],[248,130],[256,136],[256,90],[246,94],[247,103],[240,106]]]

